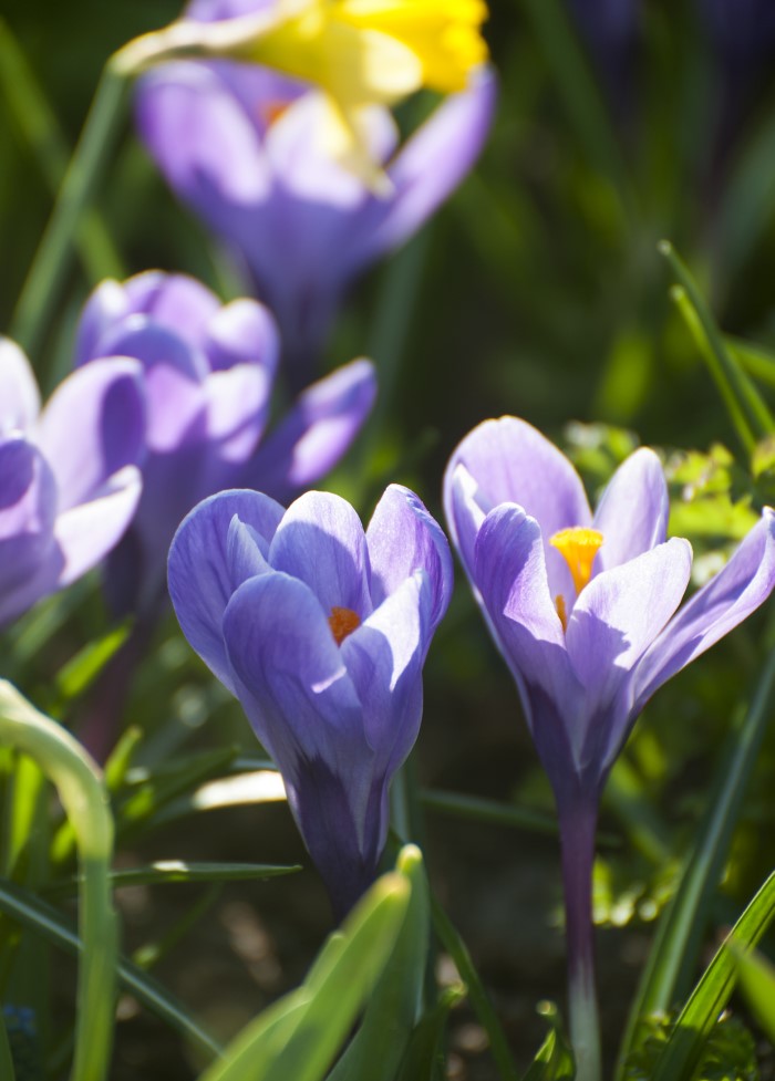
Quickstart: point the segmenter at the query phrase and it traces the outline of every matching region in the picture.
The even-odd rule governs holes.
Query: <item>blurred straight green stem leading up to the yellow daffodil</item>
[[[11,336],[30,354],[43,341],[64,283],[73,238],[117,139],[127,85],[121,70],[108,61],[13,313]]]

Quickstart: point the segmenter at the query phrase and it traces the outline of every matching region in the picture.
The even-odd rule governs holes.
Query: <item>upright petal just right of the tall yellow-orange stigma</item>
[[[653,450],[642,447],[619,466],[595,512],[603,544],[597,571],[618,567],[661,544],[668,533],[670,500],[664,471]]]

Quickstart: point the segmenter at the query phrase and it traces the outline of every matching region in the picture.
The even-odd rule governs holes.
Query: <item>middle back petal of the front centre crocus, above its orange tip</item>
[[[269,562],[304,582],[327,616],[334,607],[351,609],[360,620],[371,614],[366,539],[358,514],[339,496],[310,491],[291,503]]]

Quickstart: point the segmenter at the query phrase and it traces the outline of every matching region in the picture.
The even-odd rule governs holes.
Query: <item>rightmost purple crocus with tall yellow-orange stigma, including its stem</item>
[[[445,508],[554,789],[571,1033],[579,1077],[595,1077],[590,875],[600,791],[654,692],[769,596],[775,513],[764,511],[675,614],[692,550],[665,540],[668,490],[652,450],[619,467],[592,514],[572,465],[539,432],[514,417],[487,420],[452,456]]]

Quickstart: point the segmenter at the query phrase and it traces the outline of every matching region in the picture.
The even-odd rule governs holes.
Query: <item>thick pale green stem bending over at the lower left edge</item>
[[[103,1081],[113,1041],[117,960],[110,862],[113,818],[99,768],[53,720],[39,714],[7,680],[0,680],[0,742],[40,763],[59,790],[73,824],[83,864],[78,1021],[71,1081]]]

